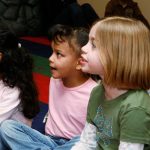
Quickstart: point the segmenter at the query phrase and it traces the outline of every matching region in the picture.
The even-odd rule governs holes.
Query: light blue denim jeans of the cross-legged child
[[[6,150],[70,150],[79,141],[79,136],[71,140],[44,135],[29,126],[14,120],[6,120],[1,124],[0,149]]]

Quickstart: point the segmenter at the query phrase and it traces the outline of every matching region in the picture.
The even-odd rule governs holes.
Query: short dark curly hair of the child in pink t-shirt
[[[67,25],[56,24],[48,31],[50,41],[58,44],[65,40],[73,47],[77,55],[81,54],[81,47],[88,42],[89,31],[83,27],[73,28]]]

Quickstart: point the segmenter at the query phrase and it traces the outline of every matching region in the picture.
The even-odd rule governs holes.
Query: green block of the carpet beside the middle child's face
[[[34,60],[33,72],[40,73],[46,76],[51,76],[48,58],[37,55],[32,55],[32,57]]]

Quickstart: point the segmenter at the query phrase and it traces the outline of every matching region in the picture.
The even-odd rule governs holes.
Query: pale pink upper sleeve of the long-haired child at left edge
[[[0,96],[0,123],[9,119],[17,111],[20,103],[19,90],[16,88],[5,88]]]

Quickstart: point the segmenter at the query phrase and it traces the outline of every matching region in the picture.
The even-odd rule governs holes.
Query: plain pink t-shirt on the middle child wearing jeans
[[[85,125],[90,93],[96,85],[89,78],[80,86],[67,88],[62,80],[51,78],[46,134],[67,139],[80,135]]]

